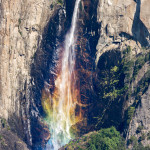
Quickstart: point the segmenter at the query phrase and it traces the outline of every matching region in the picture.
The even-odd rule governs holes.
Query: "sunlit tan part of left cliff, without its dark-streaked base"
[[[20,95],[30,86],[30,65],[49,20],[49,1],[1,1],[1,115],[20,116]],[[26,90],[25,90],[26,88]]]

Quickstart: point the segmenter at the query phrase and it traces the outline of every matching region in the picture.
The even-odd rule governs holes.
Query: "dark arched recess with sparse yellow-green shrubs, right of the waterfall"
[[[122,73],[121,53],[119,50],[111,50],[105,52],[99,59],[96,72],[93,77],[93,88],[95,96],[93,95],[92,105],[89,107],[88,121],[89,126],[93,130],[99,130],[100,128],[108,128],[115,126],[120,129],[122,126],[122,109],[124,99],[121,96],[117,96],[114,100],[111,97],[104,98],[104,93],[111,92],[114,88],[121,89],[124,87],[124,74]],[[116,73],[111,73],[111,69],[117,67]],[[106,79],[105,79],[106,78]],[[119,82],[111,86],[105,85],[105,81],[109,79],[119,80]],[[110,81],[112,82],[112,81]],[[104,115],[104,116],[103,116]],[[102,117],[102,118],[101,118]],[[101,118],[100,123],[97,125],[98,120]]]

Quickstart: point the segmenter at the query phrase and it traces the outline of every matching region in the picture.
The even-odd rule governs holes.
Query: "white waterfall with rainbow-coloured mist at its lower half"
[[[80,106],[80,94],[75,71],[75,31],[79,3],[80,0],[76,0],[71,28],[65,37],[63,56],[60,58],[61,68],[54,83],[54,92],[43,90],[42,105],[47,113],[46,121],[51,133],[46,150],[58,150],[67,144],[73,138],[71,127],[82,119],[81,110],[77,109]]]

